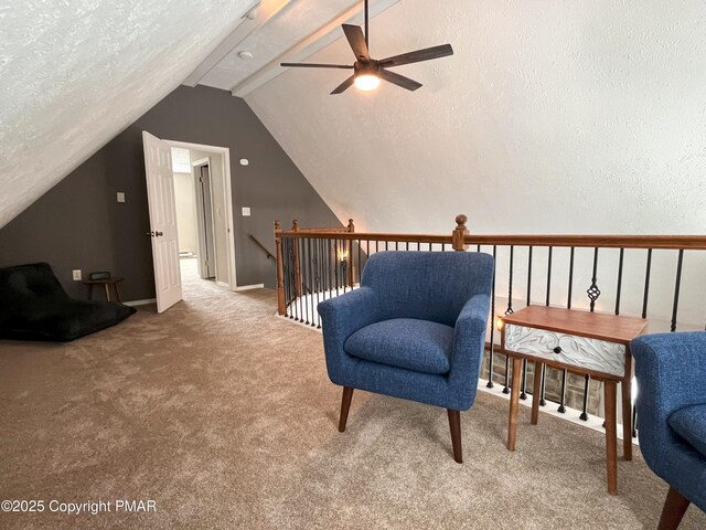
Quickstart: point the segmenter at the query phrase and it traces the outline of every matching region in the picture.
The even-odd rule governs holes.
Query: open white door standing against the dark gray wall
[[[179,242],[176,239],[176,206],[174,204],[174,173],[169,144],[142,131],[147,200],[150,209],[150,239],[154,264],[157,312],[181,300]]]

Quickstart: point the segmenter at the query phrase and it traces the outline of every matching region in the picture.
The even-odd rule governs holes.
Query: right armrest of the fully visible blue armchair
[[[490,296],[474,295],[466,303],[456,320],[449,383],[458,386],[471,402],[475,395],[490,311]],[[470,403],[469,403],[470,406]]]

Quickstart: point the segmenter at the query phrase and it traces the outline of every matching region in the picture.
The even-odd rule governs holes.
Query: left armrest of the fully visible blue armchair
[[[343,367],[354,361],[343,350],[343,343],[359,329],[379,320],[377,297],[370,287],[361,287],[324,300],[317,309],[321,316],[329,378],[335,384],[345,384]]]

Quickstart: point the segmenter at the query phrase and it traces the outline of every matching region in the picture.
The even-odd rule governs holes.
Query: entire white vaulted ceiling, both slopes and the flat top
[[[278,63],[352,62],[361,2],[255,3],[0,0],[0,226],[185,82],[245,96],[362,227],[703,232],[702,0],[374,0],[373,56],[456,54],[341,96],[345,71]]]

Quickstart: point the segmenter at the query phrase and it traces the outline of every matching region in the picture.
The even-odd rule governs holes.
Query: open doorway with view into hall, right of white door
[[[172,146],[181,275],[233,289],[236,280],[227,149],[168,142]]]

